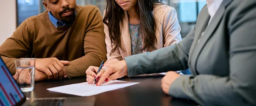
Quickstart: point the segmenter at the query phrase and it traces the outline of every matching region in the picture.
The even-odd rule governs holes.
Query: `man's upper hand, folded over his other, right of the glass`
[[[46,73],[49,79],[58,79],[61,77],[67,77],[65,65],[68,65],[69,61],[60,61],[57,58],[44,58],[36,59],[35,68],[38,71]]]

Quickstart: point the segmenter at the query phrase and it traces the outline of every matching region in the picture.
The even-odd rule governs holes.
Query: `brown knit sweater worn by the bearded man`
[[[27,18],[0,46],[0,56],[15,74],[15,59],[49,58],[69,61],[68,77],[86,76],[89,66],[106,60],[102,15],[97,6],[77,6],[70,27],[55,27],[48,12]]]

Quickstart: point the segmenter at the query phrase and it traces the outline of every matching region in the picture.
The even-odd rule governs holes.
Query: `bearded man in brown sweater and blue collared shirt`
[[[76,0],[44,0],[46,12],[27,18],[0,46],[0,56],[15,74],[15,60],[37,58],[35,80],[86,76],[106,60],[102,15],[97,6]]]

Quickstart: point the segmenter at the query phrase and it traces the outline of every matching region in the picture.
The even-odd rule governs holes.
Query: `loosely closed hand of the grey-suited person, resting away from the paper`
[[[161,81],[161,87],[164,90],[165,94],[169,93],[170,86],[172,85],[172,82],[176,80],[180,75],[176,73],[175,71],[168,71],[166,75],[163,77]]]

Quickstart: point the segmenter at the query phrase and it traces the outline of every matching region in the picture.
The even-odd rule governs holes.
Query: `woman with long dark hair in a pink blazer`
[[[104,12],[107,62],[181,41],[176,10],[158,0],[107,0]],[[87,74],[88,83],[94,80]]]

